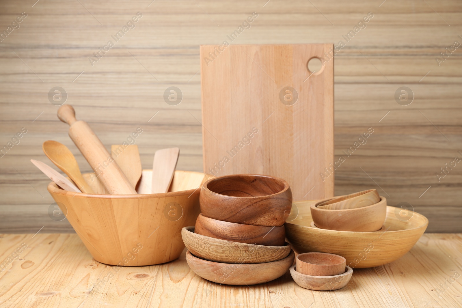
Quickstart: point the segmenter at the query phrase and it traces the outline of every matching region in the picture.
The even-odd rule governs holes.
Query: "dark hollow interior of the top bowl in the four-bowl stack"
[[[265,175],[232,175],[214,179],[207,184],[213,193],[233,197],[260,197],[279,193],[285,184]]]

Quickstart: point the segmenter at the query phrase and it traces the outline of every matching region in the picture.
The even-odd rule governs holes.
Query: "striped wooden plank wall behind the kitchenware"
[[[0,158],[0,232],[72,231],[49,217],[49,181],[30,163],[49,163],[41,145],[53,139],[90,170],[49,101],[56,86],[108,148],[142,127],[143,168],[154,151],[179,146],[178,168],[201,171],[199,45],[221,44],[252,12],[258,17],[231,43],[345,43],[335,55],[336,160],[374,132],[337,169],[335,193],[377,188],[389,205],[407,202],[426,215],[427,231],[461,232],[462,163],[437,174],[462,158],[462,47],[452,47],[462,43],[462,3],[266,1],[1,1],[0,31],[11,33],[0,42],[0,147],[22,127],[27,133]],[[111,38],[137,12],[134,28]],[[91,65],[109,40],[114,46]],[[445,48],[453,51],[438,63]],[[164,101],[170,86],[182,91],[178,105]],[[395,100],[401,87],[413,92],[407,106]]]

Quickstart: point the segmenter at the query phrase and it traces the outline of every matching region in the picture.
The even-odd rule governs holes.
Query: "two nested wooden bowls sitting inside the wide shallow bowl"
[[[377,190],[324,199],[311,205],[314,225],[321,229],[373,232],[383,228],[387,199]]]

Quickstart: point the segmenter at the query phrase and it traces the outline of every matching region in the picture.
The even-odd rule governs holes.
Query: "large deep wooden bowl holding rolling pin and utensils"
[[[49,183],[48,191],[95,260],[147,266],[180,256],[184,248],[181,229],[195,222],[200,212],[198,188],[209,177],[177,170],[170,192],[158,194],[74,193],[54,182]],[[151,178],[152,171],[144,170],[141,184]]]

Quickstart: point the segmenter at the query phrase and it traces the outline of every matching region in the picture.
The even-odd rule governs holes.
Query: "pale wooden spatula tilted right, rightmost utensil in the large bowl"
[[[157,150],[152,163],[152,192],[166,193],[175,173],[176,162],[180,155],[179,148]]]

